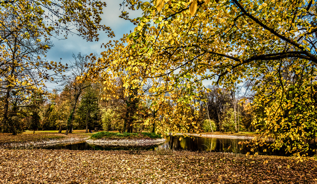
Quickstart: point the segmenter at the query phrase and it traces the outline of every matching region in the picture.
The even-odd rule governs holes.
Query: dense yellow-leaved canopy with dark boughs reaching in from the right
[[[121,87],[114,83],[121,78],[126,96],[137,90],[135,99],[151,101],[158,131],[199,131],[196,100],[204,94],[204,80],[229,89],[247,83],[254,93],[249,105],[261,112],[253,124],[265,124],[255,146],[273,132],[271,146],[286,145],[299,159],[316,150],[314,0],[126,0],[123,5],[142,9],[143,16],[132,20],[137,23],[132,33],[105,44],[109,49],[87,76],[101,76],[110,91]],[[111,95],[116,96],[105,98]]]

